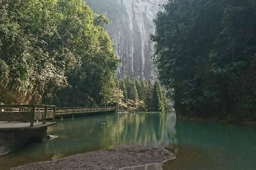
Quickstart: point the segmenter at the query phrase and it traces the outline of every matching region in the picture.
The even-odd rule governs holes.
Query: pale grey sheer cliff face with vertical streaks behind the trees
[[[96,13],[106,13],[112,23],[106,27],[116,55],[121,59],[117,78],[156,79],[151,61],[154,44],[153,19],[165,0],[85,0]]]

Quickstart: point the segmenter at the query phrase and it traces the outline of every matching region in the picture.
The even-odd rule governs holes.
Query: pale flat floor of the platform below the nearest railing
[[[46,122],[43,125],[42,122],[34,122],[34,127],[29,127],[30,123],[26,122],[0,122],[0,130],[13,130],[13,129],[20,129],[20,130],[29,130],[29,129],[36,129],[42,127],[48,127],[51,125],[55,125],[56,122]]]

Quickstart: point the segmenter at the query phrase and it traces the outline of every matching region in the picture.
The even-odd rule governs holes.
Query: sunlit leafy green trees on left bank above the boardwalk
[[[0,102],[101,104],[116,91],[118,59],[82,0],[0,0]]]

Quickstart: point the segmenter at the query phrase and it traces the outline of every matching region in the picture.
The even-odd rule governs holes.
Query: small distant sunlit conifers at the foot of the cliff
[[[116,102],[131,111],[166,112],[166,94],[158,81],[132,80],[127,77],[116,81],[122,96]],[[115,101],[115,100],[112,100]]]

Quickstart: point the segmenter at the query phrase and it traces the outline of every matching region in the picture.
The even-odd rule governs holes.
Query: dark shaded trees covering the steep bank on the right
[[[256,119],[255,0],[169,0],[154,62],[178,115]]]

